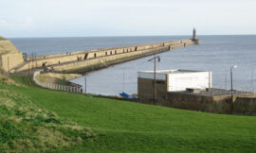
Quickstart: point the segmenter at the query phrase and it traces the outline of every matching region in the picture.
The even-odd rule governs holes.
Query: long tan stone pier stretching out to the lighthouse
[[[197,39],[187,39],[30,57],[25,59],[22,65],[15,67],[15,71],[22,72],[27,71],[28,68],[47,67],[55,72],[84,73],[127,60],[138,59],[198,43],[199,40]]]

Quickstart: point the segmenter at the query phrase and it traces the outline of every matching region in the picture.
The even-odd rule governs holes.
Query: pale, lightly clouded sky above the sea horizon
[[[0,0],[6,38],[256,34],[256,0]]]

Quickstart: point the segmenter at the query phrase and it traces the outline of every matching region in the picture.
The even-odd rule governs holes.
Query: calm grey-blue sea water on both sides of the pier
[[[158,37],[93,37],[93,38],[40,38],[10,39],[21,51],[37,55],[90,50],[102,47],[165,42],[190,36]],[[212,71],[212,84],[216,88],[230,88],[230,70],[233,69],[234,88],[253,90],[256,67],[256,36],[199,36],[200,45],[159,54],[157,70],[189,69]],[[88,93],[114,95],[121,92],[137,93],[137,72],[153,70],[151,57],[128,61],[86,75]],[[72,82],[84,85],[84,77]]]

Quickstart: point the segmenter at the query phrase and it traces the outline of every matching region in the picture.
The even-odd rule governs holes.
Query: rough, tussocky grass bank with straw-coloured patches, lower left
[[[93,138],[85,127],[41,109],[0,81],[0,152],[45,152]]]

